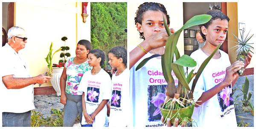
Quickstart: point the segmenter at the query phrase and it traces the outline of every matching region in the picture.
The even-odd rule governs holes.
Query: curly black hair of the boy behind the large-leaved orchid
[[[135,25],[136,23],[142,24],[143,19],[143,13],[145,11],[152,10],[152,11],[162,11],[164,14],[166,14],[167,17],[167,24],[170,24],[170,17],[167,14],[166,8],[160,4],[160,3],[154,3],[154,2],[145,2],[141,4],[138,7],[138,10],[136,11],[136,17],[134,17]],[[145,40],[144,34],[140,32],[140,38]]]

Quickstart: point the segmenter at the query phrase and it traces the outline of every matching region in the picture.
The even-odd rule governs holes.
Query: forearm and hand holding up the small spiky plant
[[[222,89],[230,85],[233,80],[236,80],[237,77],[237,71],[244,67],[243,63],[241,61],[236,61],[231,66],[227,67],[226,69],[226,75],[225,79],[221,82],[212,87],[211,89],[207,90],[206,92],[203,92],[201,97],[199,97],[198,101],[196,102],[198,105],[201,105],[205,101],[212,98],[214,95],[216,95],[218,92],[220,92]],[[195,107],[198,107],[198,105],[195,105]]]

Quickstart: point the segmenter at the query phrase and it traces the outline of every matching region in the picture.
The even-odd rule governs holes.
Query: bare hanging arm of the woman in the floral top
[[[61,103],[66,105],[67,102],[67,96],[66,96],[66,81],[67,81],[67,68],[64,67],[61,79],[60,79],[60,87],[61,87]]]

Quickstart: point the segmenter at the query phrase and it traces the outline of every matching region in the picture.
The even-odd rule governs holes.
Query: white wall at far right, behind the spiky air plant
[[[255,26],[255,3],[253,2],[245,2],[245,1],[239,1],[238,2],[238,23],[245,23],[245,30],[246,34],[250,31],[249,35],[253,35],[253,37],[250,39],[250,43],[254,43],[253,47],[255,48],[256,44],[256,26]],[[239,27],[239,26],[238,26]],[[239,32],[238,32],[239,34]],[[255,50],[253,51],[255,52]],[[255,55],[253,55],[251,63],[247,68],[253,68],[255,66],[254,64]]]

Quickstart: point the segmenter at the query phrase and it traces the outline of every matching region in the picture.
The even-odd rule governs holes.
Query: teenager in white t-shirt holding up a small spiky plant
[[[227,36],[229,17],[217,10],[208,11],[207,14],[212,16],[211,20],[199,25],[200,34],[206,44],[190,56],[197,62],[197,66],[193,68],[195,72]],[[197,126],[237,126],[232,86],[239,77],[237,71],[242,67],[245,68],[250,63],[251,57],[249,53],[245,64],[236,61],[230,65],[227,53],[221,50],[215,53],[205,67],[207,70],[204,70],[199,77],[193,94],[194,99],[198,100],[197,104],[201,105],[195,105],[192,115]]]

